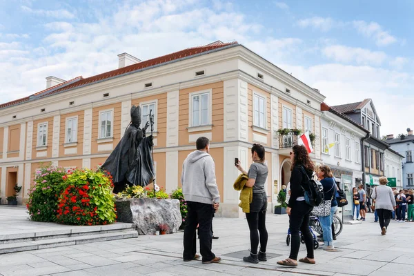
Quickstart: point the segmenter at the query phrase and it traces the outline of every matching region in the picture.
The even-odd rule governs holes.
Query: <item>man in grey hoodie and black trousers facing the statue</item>
[[[184,229],[184,262],[199,259],[196,254],[195,230],[199,225],[200,253],[203,264],[218,263],[221,258],[211,252],[213,233],[211,224],[215,210],[219,208],[220,195],[215,177],[215,164],[209,155],[210,141],[199,137],[197,150],[191,152],[183,164],[181,185],[187,201],[188,213]]]

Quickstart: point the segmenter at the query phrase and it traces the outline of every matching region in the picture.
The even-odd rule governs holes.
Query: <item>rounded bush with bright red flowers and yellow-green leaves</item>
[[[103,172],[74,170],[64,176],[66,189],[59,198],[57,221],[63,224],[112,224],[117,215],[112,177]]]

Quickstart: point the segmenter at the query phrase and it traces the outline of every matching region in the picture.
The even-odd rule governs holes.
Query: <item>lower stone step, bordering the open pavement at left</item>
[[[114,239],[130,239],[138,237],[137,230],[120,230],[114,233],[100,233],[94,235],[82,235],[76,237],[61,237],[53,239],[41,239],[31,242],[14,242],[0,244],[0,254],[14,253],[28,250],[38,250],[60,246],[74,246],[76,244],[88,244],[91,242],[104,242]]]

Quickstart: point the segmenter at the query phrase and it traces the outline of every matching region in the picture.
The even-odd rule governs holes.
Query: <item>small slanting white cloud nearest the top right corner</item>
[[[373,37],[377,46],[387,46],[397,41],[391,34],[382,30],[380,24],[376,22],[353,21],[352,23],[359,33],[364,34],[366,37]]]

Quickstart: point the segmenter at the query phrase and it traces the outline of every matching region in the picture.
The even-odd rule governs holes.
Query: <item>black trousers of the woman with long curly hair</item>
[[[292,236],[292,246],[290,247],[290,259],[297,260],[297,254],[300,248],[299,231],[305,239],[306,251],[309,259],[313,259],[313,237],[309,230],[309,215],[313,207],[306,204],[305,201],[295,201],[295,205],[290,210],[289,228]]]

